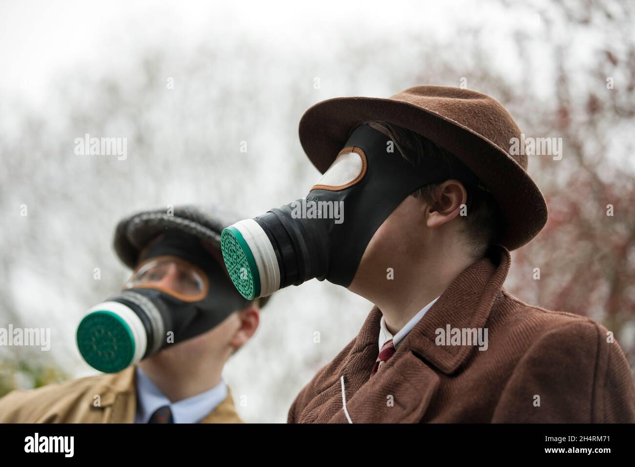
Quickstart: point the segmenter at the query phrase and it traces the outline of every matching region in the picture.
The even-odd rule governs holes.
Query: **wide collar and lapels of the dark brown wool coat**
[[[458,274],[372,378],[370,369],[377,358],[382,313],[377,307],[371,310],[349,357],[337,372],[338,379],[344,377],[343,392],[353,423],[414,423],[423,419],[439,387],[438,372],[451,374],[473,349],[436,345],[436,329],[445,329],[448,324],[452,328],[484,327],[510,264],[509,251],[496,245],[485,258]],[[329,421],[346,423],[344,409]]]

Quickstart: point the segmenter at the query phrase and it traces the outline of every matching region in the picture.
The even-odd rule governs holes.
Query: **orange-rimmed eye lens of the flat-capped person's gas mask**
[[[197,297],[204,288],[201,272],[188,262],[177,258],[150,260],[138,267],[126,283],[126,288],[151,286],[182,295]]]

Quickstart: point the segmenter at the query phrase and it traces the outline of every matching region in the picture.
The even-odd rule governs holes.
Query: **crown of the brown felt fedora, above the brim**
[[[522,154],[510,154],[512,138],[522,141],[521,130],[511,114],[495,98],[469,89],[413,86],[391,99],[408,102],[463,126],[498,146],[527,170],[525,151],[514,151]]]

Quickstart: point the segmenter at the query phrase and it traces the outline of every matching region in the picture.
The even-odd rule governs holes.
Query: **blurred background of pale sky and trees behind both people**
[[[549,222],[505,287],[600,321],[635,367],[632,3],[25,5],[0,8],[0,327],[51,328],[51,350],[0,347],[0,395],[93,374],[74,331],[127,277],[121,217],[182,203],[253,217],[297,199],[319,178],[297,137],[305,109],[420,84],[465,84],[526,136],[563,139],[560,160],[530,157]],[[86,133],[126,137],[128,157],[77,156]],[[225,371],[241,416],[285,421],[370,306],[315,280],[278,292]]]

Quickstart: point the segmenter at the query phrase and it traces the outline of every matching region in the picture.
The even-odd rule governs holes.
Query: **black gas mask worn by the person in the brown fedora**
[[[456,158],[410,156],[415,165],[384,133],[359,125],[306,198],[224,229],[221,250],[237,290],[253,299],[312,278],[348,287],[371,238],[406,196],[448,179],[478,184]]]

